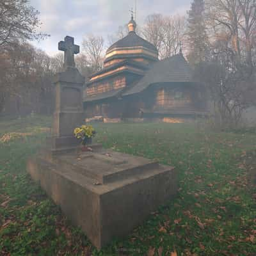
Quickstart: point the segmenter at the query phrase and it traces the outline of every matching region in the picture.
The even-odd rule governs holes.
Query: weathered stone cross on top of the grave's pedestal
[[[76,67],[74,54],[79,53],[79,46],[74,44],[74,37],[66,36],[65,41],[59,42],[58,49],[65,52],[64,68]]]

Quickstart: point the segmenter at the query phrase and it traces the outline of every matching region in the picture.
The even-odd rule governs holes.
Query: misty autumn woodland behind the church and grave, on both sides
[[[40,20],[29,1],[0,1],[0,20],[0,113],[52,113],[51,81],[62,68],[63,55],[51,57],[28,44],[48,36],[36,32]],[[136,33],[157,47],[161,59],[182,48],[221,124],[236,126],[244,109],[255,105],[255,0],[193,0],[186,15],[148,15]],[[106,49],[126,35],[124,25],[108,42],[84,36],[76,58],[81,74],[88,79],[100,70]]]

